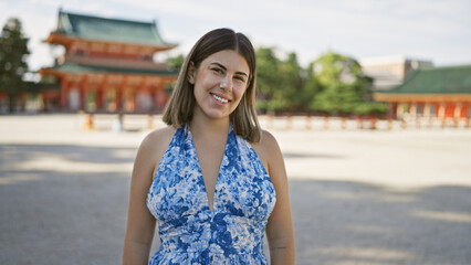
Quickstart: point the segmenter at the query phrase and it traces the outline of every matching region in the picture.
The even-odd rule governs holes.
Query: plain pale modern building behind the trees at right
[[[374,91],[387,91],[402,84],[406,75],[412,70],[433,67],[431,61],[400,55],[362,59],[359,64],[363,73],[374,80]]]

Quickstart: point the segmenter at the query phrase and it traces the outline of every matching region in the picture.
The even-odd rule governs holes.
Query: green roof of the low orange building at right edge
[[[386,94],[471,94],[471,65],[419,68]]]

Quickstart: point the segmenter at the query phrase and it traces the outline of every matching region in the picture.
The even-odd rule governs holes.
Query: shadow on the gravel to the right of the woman
[[[292,180],[299,264],[471,264],[471,189]]]

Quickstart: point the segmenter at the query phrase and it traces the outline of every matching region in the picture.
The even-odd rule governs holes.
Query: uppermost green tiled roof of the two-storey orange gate
[[[92,41],[175,46],[160,36],[156,22],[138,22],[119,19],[76,14],[59,11],[57,32]]]

